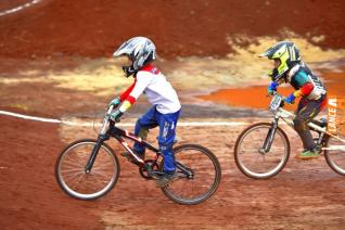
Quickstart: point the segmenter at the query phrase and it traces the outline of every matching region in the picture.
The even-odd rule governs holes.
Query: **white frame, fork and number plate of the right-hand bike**
[[[283,106],[284,106],[283,98],[280,94],[276,93],[273,95],[273,99],[271,100],[271,103],[269,106],[270,111],[274,114],[274,118],[272,122],[272,126],[269,129],[267,137],[265,139],[264,146],[260,149],[261,154],[269,152],[270,146],[273,142],[276,130],[279,126],[279,119],[282,119],[290,127],[294,128],[293,119],[295,118],[296,115],[284,110]],[[320,126],[316,125],[314,120],[309,122],[307,125],[310,127],[310,130],[317,131],[319,133],[319,139],[318,139],[317,144],[322,144],[322,139],[323,139],[324,135],[327,135],[329,137],[333,137],[333,138],[337,139],[344,143],[344,145],[332,145],[329,148],[322,146],[321,148],[322,150],[345,151],[345,140],[327,131],[327,127],[320,127]]]

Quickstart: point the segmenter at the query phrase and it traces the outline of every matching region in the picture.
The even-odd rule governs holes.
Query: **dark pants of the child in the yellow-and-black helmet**
[[[309,100],[302,98],[296,111],[296,117],[294,119],[294,128],[299,135],[303,146],[306,150],[312,150],[316,143],[312,140],[311,132],[307,124],[316,117],[323,107],[325,95],[322,95],[318,100]]]

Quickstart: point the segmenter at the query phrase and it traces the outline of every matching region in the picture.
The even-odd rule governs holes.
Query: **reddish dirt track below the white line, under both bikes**
[[[233,163],[233,143],[244,126],[207,131],[180,127],[181,142],[209,148],[223,173],[210,200],[181,206],[165,197],[152,181],[141,179],[137,168],[122,157],[120,178],[111,193],[94,202],[71,199],[53,176],[54,161],[65,144],[61,138],[92,138],[91,128],[61,129],[4,116],[0,125],[7,133],[0,139],[0,223],[8,229],[343,229],[345,225],[344,178],[333,173],[323,157],[295,159],[301,146],[289,129],[293,151],[288,167],[273,179],[255,181],[241,175]],[[151,141],[155,135],[151,133]],[[118,145],[112,146],[118,152]]]

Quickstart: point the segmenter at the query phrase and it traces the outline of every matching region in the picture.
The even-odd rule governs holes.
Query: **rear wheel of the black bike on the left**
[[[197,144],[181,144],[174,148],[177,162],[176,174],[180,178],[162,188],[164,194],[184,205],[200,204],[218,189],[221,169],[217,157],[206,148]],[[161,168],[163,168],[161,163]],[[183,174],[187,169],[191,174]]]

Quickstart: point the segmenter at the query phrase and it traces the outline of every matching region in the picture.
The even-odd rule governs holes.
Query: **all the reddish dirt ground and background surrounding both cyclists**
[[[329,94],[345,97],[344,12],[344,0],[0,0],[1,112],[101,120],[133,81],[112,59],[114,50],[145,36],[182,102],[179,143],[207,146],[223,176],[209,201],[180,206],[119,156],[116,188],[98,201],[77,201],[56,184],[55,161],[68,142],[98,130],[0,114],[1,229],[344,229],[344,178],[323,157],[294,159],[303,149],[294,130],[283,127],[292,153],[277,178],[247,179],[233,162],[242,130],[271,120],[272,63],[257,54],[277,41],[294,41]],[[122,122],[133,124],[149,106],[141,97]],[[149,141],[156,144],[156,135]]]

